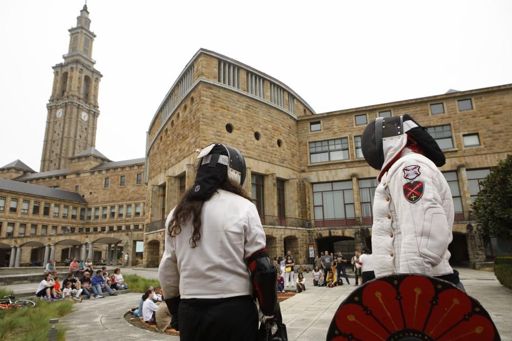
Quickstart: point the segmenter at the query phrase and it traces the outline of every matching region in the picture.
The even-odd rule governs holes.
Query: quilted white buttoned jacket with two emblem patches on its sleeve
[[[373,203],[375,276],[452,274],[453,199],[444,176],[429,158],[405,148],[379,175]]]

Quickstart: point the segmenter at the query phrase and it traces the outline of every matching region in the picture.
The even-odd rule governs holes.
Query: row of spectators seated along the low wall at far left
[[[70,271],[67,277],[60,284],[60,278],[56,269],[49,270],[49,264],[45,270],[45,278],[39,283],[36,290],[36,296],[49,301],[69,299],[70,301],[81,302],[82,295],[86,295],[90,299],[103,298],[103,291],[107,291],[109,295],[117,295],[114,291],[127,288],[124,283],[121,269],[116,268],[113,275],[109,275],[106,267],[89,272],[86,270],[77,278],[78,272]],[[51,267],[50,267],[51,268]]]

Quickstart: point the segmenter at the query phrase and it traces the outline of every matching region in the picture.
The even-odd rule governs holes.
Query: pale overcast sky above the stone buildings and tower
[[[313,5],[314,4],[314,5]],[[0,1],[0,166],[39,170],[51,66],[82,0]],[[295,90],[317,113],[512,83],[511,1],[89,0],[103,78],[96,148],[143,157],[145,131],[199,48]]]

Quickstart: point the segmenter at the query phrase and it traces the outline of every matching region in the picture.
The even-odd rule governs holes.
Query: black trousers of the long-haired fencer
[[[181,299],[181,341],[256,341],[258,310],[252,298]]]

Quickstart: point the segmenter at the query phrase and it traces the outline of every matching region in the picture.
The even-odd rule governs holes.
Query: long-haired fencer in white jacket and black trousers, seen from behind
[[[204,148],[198,159],[194,185],[165,222],[158,269],[164,300],[181,340],[252,341],[258,335],[252,287],[265,326],[282,322],[277,269],[265,248],[258,211],[241,187],[245,160],[220,143]]]

